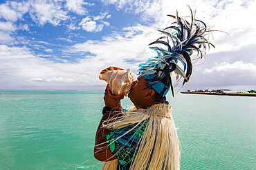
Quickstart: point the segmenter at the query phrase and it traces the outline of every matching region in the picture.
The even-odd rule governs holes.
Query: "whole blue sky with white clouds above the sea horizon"
[[[187,5],[228,34],[210,36],[216,48],[183,89],[256,89],[256,2],[235,0],[0,1],[0,89],[104,89],[110,65],[136,78],[167,14],[189,16]]]

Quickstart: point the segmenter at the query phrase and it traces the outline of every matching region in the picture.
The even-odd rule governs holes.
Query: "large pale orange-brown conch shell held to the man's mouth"
[[[124,70],[119,67],[108,67],[100,72],[100,80],[109,83],[109,89],[113,94],[125,93],[127,96],[131,89],[131,83],[134,81],[134,77],[131,76],[130,70]]]

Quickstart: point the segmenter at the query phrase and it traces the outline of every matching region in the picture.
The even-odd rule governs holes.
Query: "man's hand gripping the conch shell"
[[[107,107],[111,107],[113,109],[122,109],[120,100],[124,98],[125,94],[111,94],[109,90],[109,84],[105,89],[104,102]]]

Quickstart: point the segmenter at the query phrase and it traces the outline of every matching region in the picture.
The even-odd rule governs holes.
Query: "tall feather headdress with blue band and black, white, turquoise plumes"
[[[155,86],[156,92],[162,96],[167,94],[170,87],[172,96],[174,96],[172,72],[175,72],[177,82],[181,77],[184,78],[184,85],[189,81],[192,74],[192,59],[190,56],[193,51],[196,51],[197,56],[202,58],[205,55],[207,46],[210,48],[210,45],[212,45],[205,38],[205,35],[211,30],[207,28],[203,21],[194,19],[191,8],[190,12],[190,22],[179,17],[178,12],[176,12],[176,16],[168,15],[176,19],[176,21],[169,27],[158,30],[165,36],[161,36],[149,44],[158,45],[150,47],[157,52],[157,56],[139,65],[138,74],[143,75],[149,83],[149,87],[154,88]],[[159,47],[159,45],[164,45],[166,48]],[[214,45],[212,46],[214,47]],[[182,63],[183,67],[179,66],[178,62]],[[161,86],[160,88],[159,85]]]

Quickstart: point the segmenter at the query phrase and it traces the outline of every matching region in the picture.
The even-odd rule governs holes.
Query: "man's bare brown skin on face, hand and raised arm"
[[[154,104],[154,89],[144,89],[148,86],[147,81],[143,76],[139,76],[136,81],[131,84],[131,90],[128,94],[131,102],[134,103],[137,108],[144,108]],[[109,85],[107,85],[105,89],[104,95],[104,103],[107,107],[114,108],[116,111],[122,111],[120,100],[124,98],[125,94],[120,94],[116,96],[115,94],[111,94],[109,91]],[[95,147],[94,147],[94,156],[97,160],[100,161],[109,161],[116,159],[115,156],[109,150],[107,144],[107,134],[111,131],[109,129],[105,129],[102,127],[102,122],[104,120],[108,120],[109,118],[113,118],[113,116],[117,116],[111,111],[107,111],[100,120],[100,124],[98,126],[98,130],[95,136]]]

